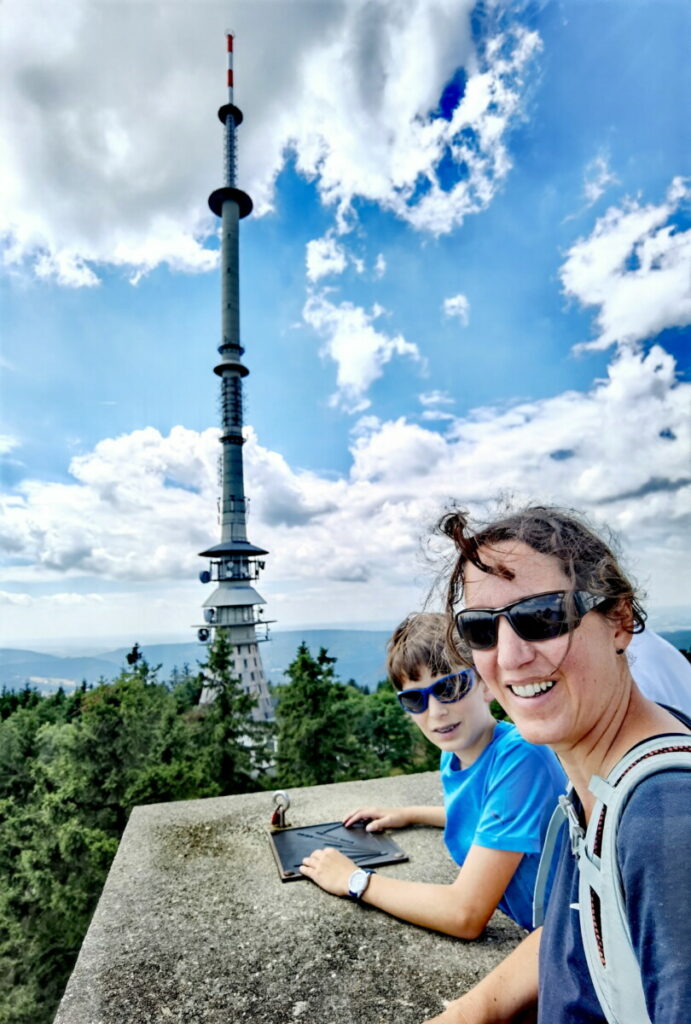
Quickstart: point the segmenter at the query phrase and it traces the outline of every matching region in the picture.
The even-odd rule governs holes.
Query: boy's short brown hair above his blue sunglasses
[[[447,676],[473,664],[470,653],[449,650],[446,645],[448,617],[438,611],[420,611],[404,618],[393,631],[386,651],[386,671],[397,690],[406,680],[418,682],[421,671],[432,676]]]

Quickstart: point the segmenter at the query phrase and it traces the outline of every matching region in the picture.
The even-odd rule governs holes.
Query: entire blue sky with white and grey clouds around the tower
[[[0,645],[200,622],[226,30],[265,617],[393,627],[511,500],[691,625],[691,5],[4,0]]]

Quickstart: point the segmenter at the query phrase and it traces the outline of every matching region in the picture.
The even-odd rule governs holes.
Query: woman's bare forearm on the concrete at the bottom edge
[[[542,928],[460,999],[425,1024],[507,1024],[533,1020],[537,1005],[537,954]]]

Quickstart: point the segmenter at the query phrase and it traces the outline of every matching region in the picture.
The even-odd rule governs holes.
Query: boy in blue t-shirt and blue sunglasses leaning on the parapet
[[[554,754],[496,722],[473,669],[449,662],[443,614],[409,615],[394,632],[387,670],[404,711],[441,751],[443,807],[361,807],[346,826],[369,831],[412,824],[444,828],[461,870],[450,885],[364,872],[327,848],[300,870],[326,892],[377,906],[403,921],[462,939],[477,938],[499,906],[522,928],[532,922],[532,891],[545,830],[565,776]]]

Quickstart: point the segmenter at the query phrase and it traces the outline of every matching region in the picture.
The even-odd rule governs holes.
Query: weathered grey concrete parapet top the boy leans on
[[[436,773],[291,791],[294,825],[365,803],[440,803]],[[136,808],[55,1024],[417,1024],[521,937],[501,912],[463,942],[282,883],[271,794]],[[397,878],[450,882],[441,833],[397,830]]]

